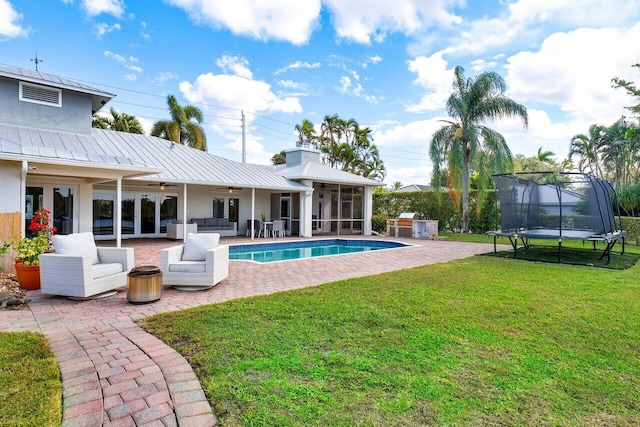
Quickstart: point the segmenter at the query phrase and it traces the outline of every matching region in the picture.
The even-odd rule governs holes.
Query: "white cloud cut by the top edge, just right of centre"
[[[332,23],[340,38],[357,43],[382,41],[387,34],[406,35],[424,31],[431,24],[449,26],[460,23],[460,17],[447,11],[457,0],[324,0],[332,13]]]

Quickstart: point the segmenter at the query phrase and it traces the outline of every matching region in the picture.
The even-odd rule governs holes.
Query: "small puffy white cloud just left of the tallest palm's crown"
[[[431,56],[419,56],[408,62],[409,71],[418,75],[413,84],[424,88],[426,92],[418,104],[408,105],[407,111],[417,113],[444,107],[451,94],[453,68],[447,68],[443,53],[441,51]]]

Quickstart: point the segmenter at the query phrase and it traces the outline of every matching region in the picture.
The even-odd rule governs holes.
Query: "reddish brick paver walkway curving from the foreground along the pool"
[[[143,305],[129,304],[126,290],[81,302],[32,291],[30,310],[0,312],[0,331],[45,334],[62,374],[64,427],[214,426],[217,420],[191,366],[134,321],[493,250],[492,244],[394,240],[417,246],[271,264],[231,262],[229,278],[210,290],[167,288],[162,299]],[[247,239],[222,240],[238,242]],[[164,239],[123,241],[135,248],[137,265],[158,265],[160,249],[174,244]]]

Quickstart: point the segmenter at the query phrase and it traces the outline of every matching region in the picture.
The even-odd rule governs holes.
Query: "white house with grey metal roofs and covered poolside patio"
[[[324,166],[306,147],[288,150],[286,165],[258,166],[92,128],[92,115],[114,96],[0,66],[0,216],[19,212],[26,232],[33,212],[47,208],[59,233],[92,231],[118,245],[165,237],[168,223],[193,218],[228,220],[227,234],[245,235],[263,211],[286,220],[289,235],[371,234],[372,190],[381,183]]]

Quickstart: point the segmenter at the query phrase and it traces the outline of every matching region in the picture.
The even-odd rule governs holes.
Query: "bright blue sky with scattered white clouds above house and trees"
[[[0,0],[0,63],[116,94],[107,107],[149,129],[166,95],[205,113],[209,151],[267,164],[294,126],[325,115],[374,130],[385,182],[428,183],[453,68],[498,72],[529,111],[492,124],[514,154],[566,156],[609,125],[638,82],[640,0]]]

